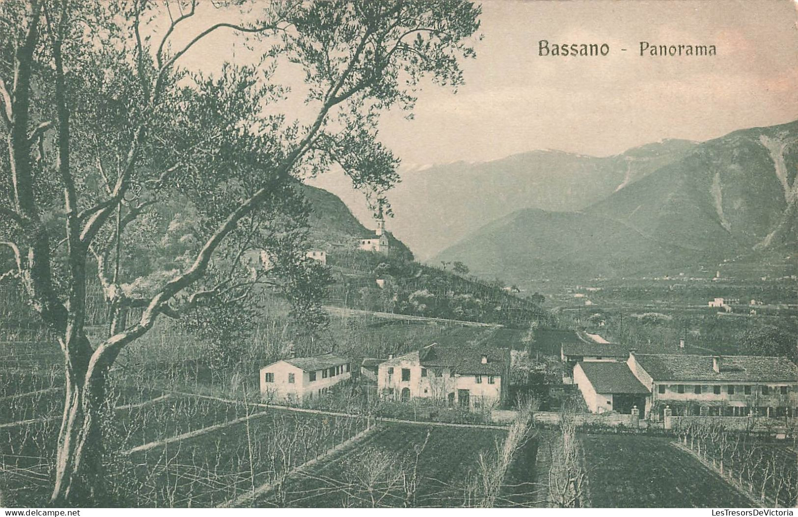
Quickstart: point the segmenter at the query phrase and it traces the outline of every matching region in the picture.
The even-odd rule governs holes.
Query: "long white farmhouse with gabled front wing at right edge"
[[[636,353],[574,367],[592,412],[673,416],[798,416],[798,366],[788,357]]]

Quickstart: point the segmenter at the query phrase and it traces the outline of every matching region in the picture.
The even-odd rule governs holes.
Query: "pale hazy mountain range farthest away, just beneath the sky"
[[[678,160],[694,146],[688,140],[663,140],[615,156],[533,151],[489,162],[401,170],[401,183],[389,192],[396,214],[389,226],[418,257],[430,258],[512,211],[582,210]],[[350,206],[362,204],[331,178],[321,176],[318,184]]]

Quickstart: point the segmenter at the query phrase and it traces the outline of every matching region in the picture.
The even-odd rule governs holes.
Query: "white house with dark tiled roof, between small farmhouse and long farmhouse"
[[[381,397],[409,401],[437,399],[449,406],[477,409],[504,401],[510,369],[508,349],[474,349],[438,343],[379,365]]]

